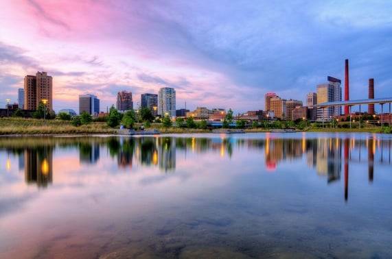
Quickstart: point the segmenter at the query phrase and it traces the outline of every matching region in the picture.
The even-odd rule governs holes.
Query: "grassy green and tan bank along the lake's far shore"
[[[136,125],[138,127],[139,125]],[[181,134],[181,133],[208,133],[211,130],[187,129],[183,127],[165,128],[161,123],[152,123],[146,130],[157,129],[161,134]],[[390,129],[390,128],[389,128]],[[45,134],[115,134],[117,129],[108,127],[105,122],[93,122],[87,125],[75,127],[71,121],[47,120],[46,125],[42,119],[21,119],[21,118],[2,118],[0,119],[0,135],[45,135]],[[246,132],[268,132],[270,129],[257,128],[248,129]],[[381,127],[365,128],[333,128],[333,127],[307,127],[303,132],[370,132],[388,133]]]

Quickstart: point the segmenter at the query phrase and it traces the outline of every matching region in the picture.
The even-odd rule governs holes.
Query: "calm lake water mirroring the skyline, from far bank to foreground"
[[[392,136],[0,138],[0,258],[392,258]]]

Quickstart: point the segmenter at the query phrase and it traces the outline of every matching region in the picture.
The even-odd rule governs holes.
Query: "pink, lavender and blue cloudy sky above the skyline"
[[[0,106],[25,75],[53,77],[53,108],[100,110],[117,93],[176,90],[176,109],[264,110],[264,95],[305,103],[327,76],[351,100],[392,97],[392,1],[1,0]],[[376,107],[377,108],[377,107]],[[355,110],[355,108],[353,108]]]

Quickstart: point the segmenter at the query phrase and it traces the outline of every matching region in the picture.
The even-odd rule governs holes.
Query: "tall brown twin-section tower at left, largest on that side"
[[[46,72],[37,72],[36,75],[26,75],[24,82],[24,108],[36,110],[42,100],[47,100],[47,108],[53,110],[53,78]]]

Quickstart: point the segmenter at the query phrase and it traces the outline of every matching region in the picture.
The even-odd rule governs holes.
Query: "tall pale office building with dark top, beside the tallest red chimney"
[[[326,84],[317,85],[317,103],[326,103],[330,101],[342,101],[341,80],[334,77],[327,77]],[[341,106],[318,108],[317,120],[330,120],[333,116],[340,116],[341,113]]]

